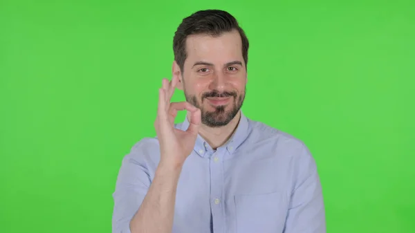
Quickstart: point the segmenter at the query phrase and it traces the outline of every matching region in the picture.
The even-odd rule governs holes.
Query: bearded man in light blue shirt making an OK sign
[[[237,20],[221,10],[196,12],[173,44],[157,137],[140,140],[122,161],[113,233],[326,232],[307,147],[241,113],[249,46]],[[175,88],[186,102],[170,103]],[[187,118],[174,124],[181,110]]]

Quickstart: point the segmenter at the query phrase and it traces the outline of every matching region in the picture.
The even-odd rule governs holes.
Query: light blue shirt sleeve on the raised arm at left
[[[136,214],[151,184],[143,146],[139,142],[122,160],[113,193],[112,233],[131,233],[131,218]]]

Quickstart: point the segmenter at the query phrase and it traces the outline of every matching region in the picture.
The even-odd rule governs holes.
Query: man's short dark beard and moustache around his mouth
[[[204,93],[199,102],[196,95],[187,95],[185,91],[186,101],[196,106],[201,110],[202,123],[208,127],[223,127],[228,124],[239,112],[242,107],[243,100],[245,99],[246,90],[240,95],[236,92],[223,92],[211,91]],[[233,97],[232,108],[227,109],[226,105],[219,105],[214,107],[214,111],[208,111],[203,107],[203,101],[207,97]]]

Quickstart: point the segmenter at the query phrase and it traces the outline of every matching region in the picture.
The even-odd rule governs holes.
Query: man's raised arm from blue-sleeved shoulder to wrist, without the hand
[[[151,182],[148,156],[159,152],[148,145],[138,143],[122,161],[113,194],[113,233],[172,232],[181,167],[160,163]]]

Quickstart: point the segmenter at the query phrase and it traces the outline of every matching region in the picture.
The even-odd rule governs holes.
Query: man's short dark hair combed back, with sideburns
[[[199,10],[183,19],[173,38],[174,60],[181,68],[181,72],[183,73],[183,66],[187,58],[186,39],[188,36],[206,34],[219,37],[224,32],[232,32],[232,30],[237,30],[241,36],[242,56],[245,66],[247,66],[249,41],[237,19],[230,13],[224,10]]]

